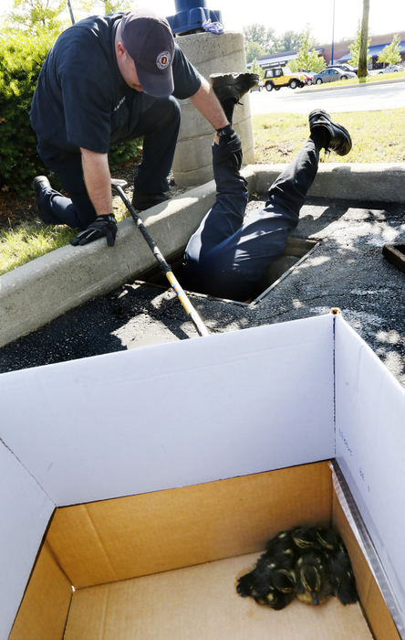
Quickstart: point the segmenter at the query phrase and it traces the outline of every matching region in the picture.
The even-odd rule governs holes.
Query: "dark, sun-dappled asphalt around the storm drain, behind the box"
[[[317,247],[260,303],[191,294],[192,304],[210,333],[321,315],[337,306],[405,385],[405,275],[381,252],[385,243],[404,238],[404,210],[313,198],[293,235],[319,240]],[[166,287],[128,282],[3,347],[0,373],[197,336]]]

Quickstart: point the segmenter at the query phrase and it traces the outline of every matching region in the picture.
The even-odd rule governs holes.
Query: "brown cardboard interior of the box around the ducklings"
[[[297,524],[338,529],[361,606],[276,612],[237,595],[266,540]],[[321,462],[57,508],[10,638],[360,640],[370,629],[400,638]]]

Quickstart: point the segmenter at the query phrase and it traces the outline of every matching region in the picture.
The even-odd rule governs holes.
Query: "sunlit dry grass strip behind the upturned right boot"
[[[321,162],[405,162],[403,123],[405,109],[377,112],[331,113],[345,126],[353,148],[343,157],[321,154]],[[254,155],[256,163],[288,163],[308,136],[308,119],[298,113],[255,115]]]

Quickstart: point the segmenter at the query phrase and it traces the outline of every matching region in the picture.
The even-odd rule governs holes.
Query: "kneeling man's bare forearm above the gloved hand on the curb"
[[[97,215],[112,213],[111,176],[109,174],[109,156],[96,154],[88,149],[80,149],[83,176],[88,197]]]

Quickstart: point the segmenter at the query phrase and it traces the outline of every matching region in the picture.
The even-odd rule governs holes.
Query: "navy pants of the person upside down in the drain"
[[[306,193],[317,175],[319,148],[310,138],[268,191],[265,208],[244,219],[246,181],[225,151],[213,144],[217,197],[186,247],[185,288],[245,301],[263,285],[266,268],[283,251],[298,223]]]

